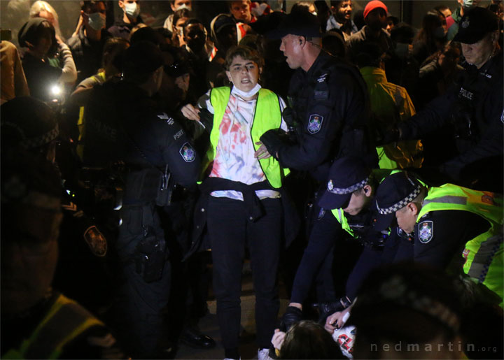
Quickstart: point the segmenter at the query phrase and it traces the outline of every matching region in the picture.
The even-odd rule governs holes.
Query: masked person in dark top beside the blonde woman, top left
[[[80,10],[83,26],[68,40],[73,61],[78,69],[77,81],[97,73],[102,65],[102,52],[108,38],[106,31],[106,6],[104,1],[83,1]]]

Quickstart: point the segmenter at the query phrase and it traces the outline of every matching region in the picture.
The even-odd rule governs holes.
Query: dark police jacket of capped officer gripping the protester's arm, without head
[[[279,149],[283,167],[310,171],[325,182],[337,157],[361,155],[375,165],[376,150],[367,131],[370,102],[358,70],[321,52],[309,71],[294,73],[288,99],[297,141]]]

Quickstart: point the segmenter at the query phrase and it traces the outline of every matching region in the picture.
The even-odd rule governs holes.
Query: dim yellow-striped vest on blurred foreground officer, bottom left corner
[[[58,359],[66,344],[94,325],[103,323],[60,294],[30,338],[19,349],[8,350],[2,359]]]

